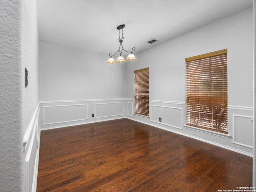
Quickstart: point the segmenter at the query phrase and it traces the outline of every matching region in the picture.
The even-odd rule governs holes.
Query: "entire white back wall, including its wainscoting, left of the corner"
[[[44,42],[39,50],[42,129],[125,117],[125,64]]]

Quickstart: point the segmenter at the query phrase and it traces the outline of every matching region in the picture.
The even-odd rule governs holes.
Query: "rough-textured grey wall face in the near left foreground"
[[[0,1],[0,191],[24,189],[22,1]]]

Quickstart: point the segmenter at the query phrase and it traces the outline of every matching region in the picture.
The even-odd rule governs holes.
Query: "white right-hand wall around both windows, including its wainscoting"
[[[223,138],[222,134],[216,136],[184,126],[185,58],[225,48],[228,49],[229,138]],[[133,71],[149,67],[150,118],[136,115],[128,117],[252,156],[252,49],[253,9],[248,8],[137,54],[138,60],[127,65],[127,98],[133,103]],[[159,117],[162,118],[162,122],[159,122]]]

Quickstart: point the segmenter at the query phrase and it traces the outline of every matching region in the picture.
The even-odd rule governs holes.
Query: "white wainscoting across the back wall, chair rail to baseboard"
[[[43,101],[40,102],[41,130],[98,122],[98,118],[123,118],[125,102],[126,98]]]

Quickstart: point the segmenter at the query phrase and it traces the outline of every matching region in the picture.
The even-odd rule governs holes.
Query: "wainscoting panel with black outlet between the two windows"
[[[150,105],[151,121],[182,129],[182,108]],[[161,122],[159,121],[161,118]]]

